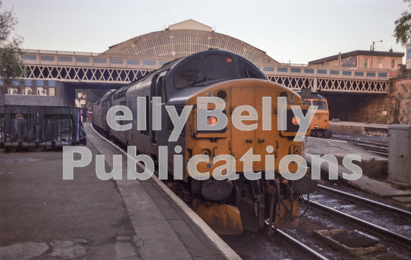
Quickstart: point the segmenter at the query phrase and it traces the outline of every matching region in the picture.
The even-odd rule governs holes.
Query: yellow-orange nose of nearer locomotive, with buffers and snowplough
[[[198,97],[224,100],[224,109],[220,110],[227,117],[225,128],[216,131],[197,129],[197,120],[200,120],[197,118]],[[286,99],[287,130],[278,130],[278,97]],[[281,159],[287,155],[303,157],[303,143],[294,141],[299,128],[298,122],[293,124],[295,116],[291,109],[291,106],[299,106],[302,111],[307,111],[308,106],[301,104],[300,96],[292,90],[258,79],[215,84],[188,99],[187,105],[192,105],[193,110],[185,127],[185,163],[188,167],[184,176],[187,179],[195,178],[195,174],[203,177],[208,173],[209,179],[192,180],[192,191],[214,202],[198,197],[193,205],[197,214],[218,234],[241,233],[243,228],[256,231],[266,219],[274,222],[275,228],[297,226],[300,193],[292,186],[301,184],[292,183],[306,182],[303,186],[311,187],[315,184],[307,178],[289,181],[278,169]],[[207,103],[207,109],[214,110],[216,105]],[[218,120],[208,116],[207,121],[210,125]],[[206,155],[207,159],[196,162],[196,169],[189,171],[192,168],[190,159],[195,155]],[[297,162],[288,164],[290,173],[295,173],[297,167]],[[215,179],[216,174],[220,176],[218,173],[227,178]]]

